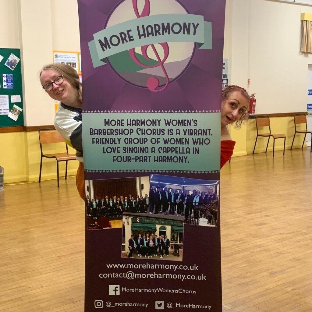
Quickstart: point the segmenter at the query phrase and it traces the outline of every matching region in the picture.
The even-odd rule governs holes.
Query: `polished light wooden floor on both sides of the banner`
[[[223,311],[312,312],[312,156],[232,158],[221,173]],[[0,192],[0,311],[82,312],[84,204],[75,179]]]

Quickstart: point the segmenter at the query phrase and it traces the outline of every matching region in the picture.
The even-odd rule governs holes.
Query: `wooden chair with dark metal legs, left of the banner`
[[[60,161],[66,161],[66,169],[65,169],[65,180],[66,180],[66,178],[67,178],[67,162],[69,160],[75,160],[76,159],[75,154],[68,154],[67,144],[65,143],[66,153],[43,154],[43,152],[42,152],[42,144],[61,143],[61,142],[65,143],[64,138],[54,128],[39,129],[39,143],[40,143],[40,151],[41,151],[39,183],[41,182],[41,169],[42,169],[43,157],[56,159],[57,187],[58,188],[60,187],[58,163]]]

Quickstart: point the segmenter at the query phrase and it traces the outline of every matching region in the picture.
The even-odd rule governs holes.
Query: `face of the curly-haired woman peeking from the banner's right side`
[[[231,92],[221,104],[221,127],[239,120],[249,103],[240,91]]]

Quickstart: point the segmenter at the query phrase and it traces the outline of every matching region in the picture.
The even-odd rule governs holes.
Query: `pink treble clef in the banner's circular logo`
[[[149,13],[150,13],[150,2],[149,2],[149,0],[145,0],[144,8],[142,10],[141,15],[139,14],[138,0],[132,0],[132,6],[133,6],[133,9],[134,9],[134,12],[135,12],[135,15],[136,15],[137,18],[149,16]],[[157,89],[159,87],[159,80],[156,77],[149,77],[149,79],[146,82],[146,86],[148,87],[148,89],[153,91],[153,92],[158,92],[158,91],[164,90],[168,86],[168,83],[169,83],[169,77],[168,77],[167,71],[165,69],[165,66],[163,64],[167,60],[167,58],[168,58],[169,46],[168,46],[167,42],[159,43],[159,45],[163,48],[163,53],[164,53],[163,59],[160,58],[160,56],[159,56],[159,54],[158,54],[154,44],[146,45],[146,46],[142,46],[141,47],[142,55],[144,56],[144,58],[146,60],[152,60],[147,55],[147,49],[148,49],[149,46],[151,46],[151,48],[153,49],[153,51],[155,53],[155,56],[156,56],[156,58],[158,60],[158,63],[155,64],[155,65],[145,65],[145,64],[143,64],[136,57],[135,52],[134,52],[134,48],[129,50],[129,54],[130,54],[132,60],[136,64],[138,64],[138,65],[140,65],[142,67],[145,67],[145,68],[153,68],[153,67],[160,66],[161,69],[163,70],[163,73],[164,73],[164,75],[166,77],[166,83],[165,83],[165,85],[162,88]]]

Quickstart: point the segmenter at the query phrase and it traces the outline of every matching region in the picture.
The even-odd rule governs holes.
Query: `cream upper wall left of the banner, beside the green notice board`
[[[53,50],[80,51],[77,0],[0,0],[0,47],[21,49],[24,123],[51,125],[54,104],[39,72]]]

